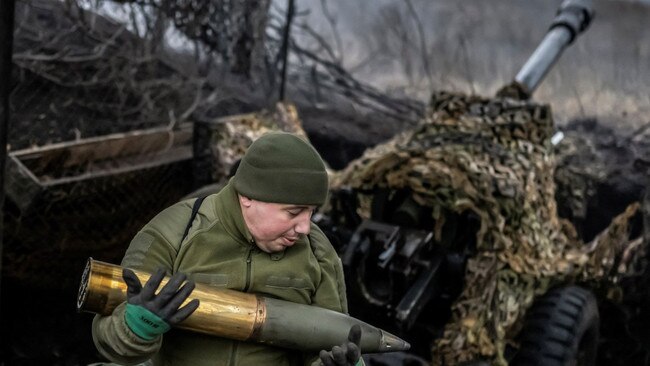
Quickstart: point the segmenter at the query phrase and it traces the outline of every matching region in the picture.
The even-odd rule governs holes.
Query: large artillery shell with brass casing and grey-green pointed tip
[[[134,271],[141,282],[149,273]],[[163,285],[168,278],[163,280]],[[109,315],[126,301],[122,267],[90,258],[81,278],[77,310]],[[318,351],[347,339],[350,328],[361,327],[364,353],[405,351],[408,342],[370,324],[336,311],[265,298],[255,294],[196,284],[191,295],[200,305],[178,325],[190,331],[240,341]],[[191,299],[187,299],[185,303]]]

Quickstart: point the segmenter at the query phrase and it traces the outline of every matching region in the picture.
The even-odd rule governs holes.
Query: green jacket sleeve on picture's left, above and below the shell
[[[145,225],[129,244],[122,259],[123,267],[153,273],[158,268],[173,272],[180,241],[191,213],[191,201],[171,206]],[[109,360],[133,365],[146,361],[158,352],[162,336],[145,341],[133,333],[124,320],[125,303],[113,314],[95,316],[92,326],[97,350]]]

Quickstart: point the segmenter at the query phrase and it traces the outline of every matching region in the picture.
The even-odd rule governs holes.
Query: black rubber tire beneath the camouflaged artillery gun
[[[594,295],[581,287],[556,288],[526,315],[511,366],[594,366],[600,317]]]

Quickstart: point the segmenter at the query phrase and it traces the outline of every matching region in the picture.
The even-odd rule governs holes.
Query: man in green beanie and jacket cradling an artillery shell
[[[163,210],[133,238],[122,266],[155,274],[142,286],[124,271],[127,301],[93,321],[97,349],[123,364],[363,364],[358,326],[319,355],[172,328],[199,305],[181,307],[194,281],[347,313],[341,262],[311,222],[327,192],[310,144],[288,133],[260,137],[219,193]],[[172,277],[156,293],[165,273]]]

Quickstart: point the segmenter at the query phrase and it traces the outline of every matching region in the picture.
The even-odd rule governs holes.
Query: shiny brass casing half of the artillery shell
[[[134,272],[143,284],[151,276]],[[168,279],[165,277],[162,284]],[[77,310],[109,315],[126,301],[126,288],[122,267],[90,258],[81,278]],[[199,299],[199,307],[178,328],[245,341],[255,338],[266,320],[265,303],[254,294],[197,283],[184,304],[192,299]]]

